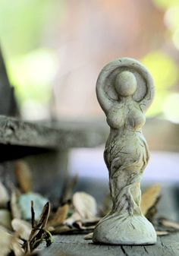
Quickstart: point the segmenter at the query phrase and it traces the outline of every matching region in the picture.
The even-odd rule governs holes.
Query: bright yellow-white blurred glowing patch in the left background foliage
[[[11,83],[16,84],[20,104],[27,100],[49,103],[52,81],[58,71],[58,58],[52,49],[36,49],[9,62]]]

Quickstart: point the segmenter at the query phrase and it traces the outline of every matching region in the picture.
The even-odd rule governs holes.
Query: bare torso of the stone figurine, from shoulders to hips
[[[139,103],[132,99],[114,103],[108,112],[107,122],[111,131],[105,153],[112,157],[116,153],[124,154],[124,157],[125,154],[130,154],[130,157],[137,159],[140,153],[143,154],[147,150],[146,140],[141,131],[146,117]]]

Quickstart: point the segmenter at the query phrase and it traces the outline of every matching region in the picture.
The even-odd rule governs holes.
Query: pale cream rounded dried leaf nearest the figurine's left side
[[[74,211],[79,213],[81,219],[93,219],[97,213],[96,200],[85,192],[76,192],[73,195]]]

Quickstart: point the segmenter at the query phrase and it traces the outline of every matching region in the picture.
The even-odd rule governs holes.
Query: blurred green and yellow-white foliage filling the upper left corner
[[[58,60],[54,50],[44,47],[44,38],[57,5],[60,22],[65,0],[0,0],[1,46],[21,107],[27,101],[50,102]]]

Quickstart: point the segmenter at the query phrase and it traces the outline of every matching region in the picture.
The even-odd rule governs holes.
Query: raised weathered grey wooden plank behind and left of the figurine
[[[106,131],[93,122],[59,122],[58,127],[0,116],[0,144],[11,144],[47,149],[67,149],[70,147],[96,147],[104,142]]]

